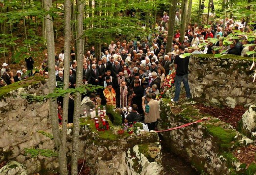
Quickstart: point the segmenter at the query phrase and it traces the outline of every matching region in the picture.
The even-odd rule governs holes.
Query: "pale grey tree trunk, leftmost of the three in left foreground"
[[[43,6],[46,12],[50,12],[52,9],[52,1],[51,0],[43,0]],[[53,94],[55,89],[55,50],[54,50],[54,34],[53,34],[53,22],[52,16],[50,14],[46,14],[45,16],[45,26],[46,26],[46,42],[47,42],[47,53],[48,53],[48,68],[49,68],[49,93]],[[61,146],[61,139],[60,139],[60,129],[59,129],[59,121],[58,121],[58,114],[57,114],[57,102],[55,98],[50,98],[50,117],[51,117],[51,124],[52,124],[52,133],[55,142],[55,146],[57,149],[58,158],[59,158],[59,168],[62,169],[61,164],[61,154],[60,154],[60,146]]]

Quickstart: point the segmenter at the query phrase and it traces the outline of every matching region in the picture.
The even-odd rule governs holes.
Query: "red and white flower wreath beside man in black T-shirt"
[[[163,85],[161,87],[161,93],[156,97],[157,100],[160,100],[161,98],[166,97],[166,95],[169,94],[169,89],[172,86],[174,86],[175,76],[176,76],[176,72],[174,71],[170,75],[167,75],[165,77]]]

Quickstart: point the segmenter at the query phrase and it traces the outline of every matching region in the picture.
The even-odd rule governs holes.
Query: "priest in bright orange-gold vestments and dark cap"
[[[113,88],[112,82],[107,83],[107,87],[103,90],[103,95],[106,100],[106,104],[116,108],[116,92]]]

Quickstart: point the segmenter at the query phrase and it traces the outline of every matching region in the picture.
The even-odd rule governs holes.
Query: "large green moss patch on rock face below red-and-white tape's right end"
[[[235,140],[234,137],[236,135],[234,130],[223,129],[222,127],[211,124],[207,124],[206,127],[209,134],[217,138],[221,149],[228,150],[234,145],[233,141]]]

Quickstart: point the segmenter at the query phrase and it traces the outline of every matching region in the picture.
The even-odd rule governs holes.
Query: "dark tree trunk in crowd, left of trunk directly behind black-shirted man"
[[[172,2],[170,0],[170,3],[172,4],[172,6],[170,5],[169,18],[175,19],[178,0],[172,0]],[[175,20],[169,20],[168,21],[169,28],[168,28],[168,35],[167,35],[166,50],[165,50],[166,54],[168,52],[171,52],[172,36],[173,36],[173,33],[174,33],[174,24],[175,24]]]

